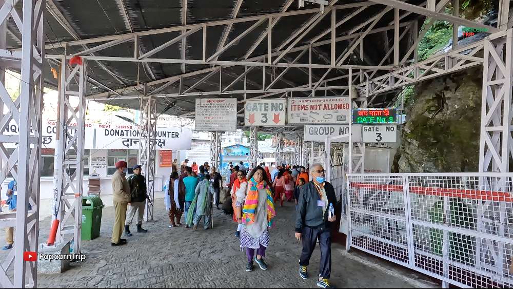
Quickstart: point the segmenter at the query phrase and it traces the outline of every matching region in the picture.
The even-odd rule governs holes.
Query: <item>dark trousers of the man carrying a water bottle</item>
[[[319,239],[319,246],[321,247],[320,274],[323,278],[329,279],[331,273],[331,232],[329,228],[320,230],[319,228],[305,226],[301,238],[303,240],[303,251],[301,251],[299,264],[308,266],[315,249],[315,243]]]

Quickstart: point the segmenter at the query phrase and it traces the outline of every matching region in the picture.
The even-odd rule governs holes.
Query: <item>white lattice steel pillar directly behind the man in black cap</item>
[[[141,109],[141,125],[139,127],[139,162],[143,167],[143,174],[146,177],[146,190],[148,198],[144,210],[144,220],[153,221],[153,197],[155,193],[155,137],[157,110],[154,98],[146,95],[147,88],[144,87],[144,96],[139,100]]]

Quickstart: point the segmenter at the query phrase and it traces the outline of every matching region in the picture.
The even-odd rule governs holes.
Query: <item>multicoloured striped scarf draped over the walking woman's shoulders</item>
[[[258,206],[258,190],[265,189],[267,191],[267,227],[272,227],[272,221],[276,216],[276,212],[274,211],[274,202],[272,201],[272,194],[269,185],[267,185],[267,183],[264,181],[261,181],[257,184],[257,182],[251,178],[251,180],[248,182],[248,186],[250,189],[242,209],[243,222],[247,225],[254,223],[255,213],[257,212]]]

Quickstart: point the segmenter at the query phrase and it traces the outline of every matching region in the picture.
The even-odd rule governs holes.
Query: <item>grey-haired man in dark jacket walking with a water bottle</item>
[[[312,181],[300,189],[297,216],[295,219],[295,238],[303,239],[303,251],[299,260],[299,275],[308,278],[306,267],[310,261],[315,243],[319,239],[321,247],[321,268],[317,286],[332,288],[329,285],[331,273],[331,233],[329,223],[336,220],[336,216],[328,217],[329,204],[335,204],[335,190],[333,186],[324,181],[324,168],[321,164],[311,167]]]

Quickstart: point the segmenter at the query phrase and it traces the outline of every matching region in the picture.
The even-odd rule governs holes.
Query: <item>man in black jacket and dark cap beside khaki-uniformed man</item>
[[[133,175],[128,178],[130,185],[130,203],[128,203],[127,216],[125,220],[125,236],[131,237],[130,225],[137,211],[137,233],[147,233],[148,230],[142,228],[144,207],[146,205],[146,178],[141,175],[141,165],[133,167]]]

